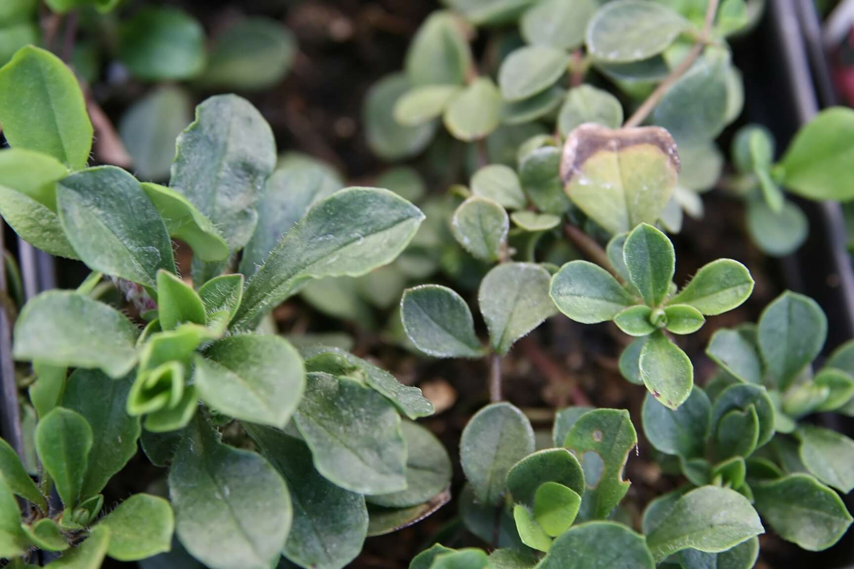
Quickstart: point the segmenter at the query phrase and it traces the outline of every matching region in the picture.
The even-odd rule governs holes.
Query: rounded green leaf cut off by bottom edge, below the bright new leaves
[[[612,521],[575,525],[554,540],[541,569],[653,569],[643,536]]]

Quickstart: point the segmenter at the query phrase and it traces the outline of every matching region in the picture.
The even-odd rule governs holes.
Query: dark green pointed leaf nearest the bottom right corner
[[[756,508],[775,533],[809,551],[828,549],[851,525],[839,495],[807,474],[751,485]]]

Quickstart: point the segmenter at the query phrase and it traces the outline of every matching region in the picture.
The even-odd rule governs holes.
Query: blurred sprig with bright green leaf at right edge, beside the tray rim
[[[793,253],[810,229],[783,189],[809,200],[854,199],[854,186],[843,174],[854,155],[852,133],[854,111],[828,108],[798,131],[776,163],[774,136],[767,129],[747,125],[736,133],[731,154],[738,174],[726,185],[746,200],[747,231],[763,253]]]

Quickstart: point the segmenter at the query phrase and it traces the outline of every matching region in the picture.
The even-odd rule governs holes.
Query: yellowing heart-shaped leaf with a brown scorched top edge
[[[676,188],[676,155],[673,137],[657,126],[581,125],[567,137],[560,176],[576,206],[611,234],[623,233],[661,216]]]

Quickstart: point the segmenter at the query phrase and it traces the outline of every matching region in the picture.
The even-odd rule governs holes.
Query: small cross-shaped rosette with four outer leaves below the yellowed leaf
[[[693,365],[670,334],[693,334],[705,316],[743,303],[753,290],[750,271],[733,259],[717,259],[678,289],[672,280],[673,244],[648,224],[614,237],[607,252],[613,273],[588,261],[570,261],[552,277],[549,293],[572,320],[611,320],[635,336],[620,357],[623,377],[643,383],[654,398],[676,409],[691,393]]]

